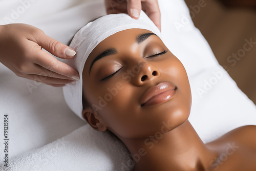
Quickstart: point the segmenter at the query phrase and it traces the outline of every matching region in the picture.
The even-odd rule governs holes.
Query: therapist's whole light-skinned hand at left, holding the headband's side
[[[79,79],[78,72],[51,54],[70,59],[75,51],[26,24],[0,26],[0,62],[17,76],[44,82],[54,87]]]

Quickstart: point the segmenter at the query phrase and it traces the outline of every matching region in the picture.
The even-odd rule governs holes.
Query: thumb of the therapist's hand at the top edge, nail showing
[[[127,12],[135,19],[138,19],[141,11],[141,0],[127,0]]]

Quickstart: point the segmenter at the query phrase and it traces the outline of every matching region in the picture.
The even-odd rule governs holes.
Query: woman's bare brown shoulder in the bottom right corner
[[[219,139],[206,144],[220,149],[220,154],[210,170],[256,170],[256,126],[247,125],[234,129]]]

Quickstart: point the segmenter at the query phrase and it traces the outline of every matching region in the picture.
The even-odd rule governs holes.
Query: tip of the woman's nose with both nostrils
[[[151,81],[160,76],[159,70],[150,63],[141,63],[139,68],[139,72],[134,77],[134,83],[136,86],[142,86],[147,81]]]

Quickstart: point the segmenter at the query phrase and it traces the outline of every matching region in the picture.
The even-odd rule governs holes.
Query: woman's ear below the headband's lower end
[[[108,126],[103,124],[95,114],[95,112],[91,108],[84,109],[82,111],[82,116],[86,121],[93,127],[94,130],[97,131],[106,131]]]

